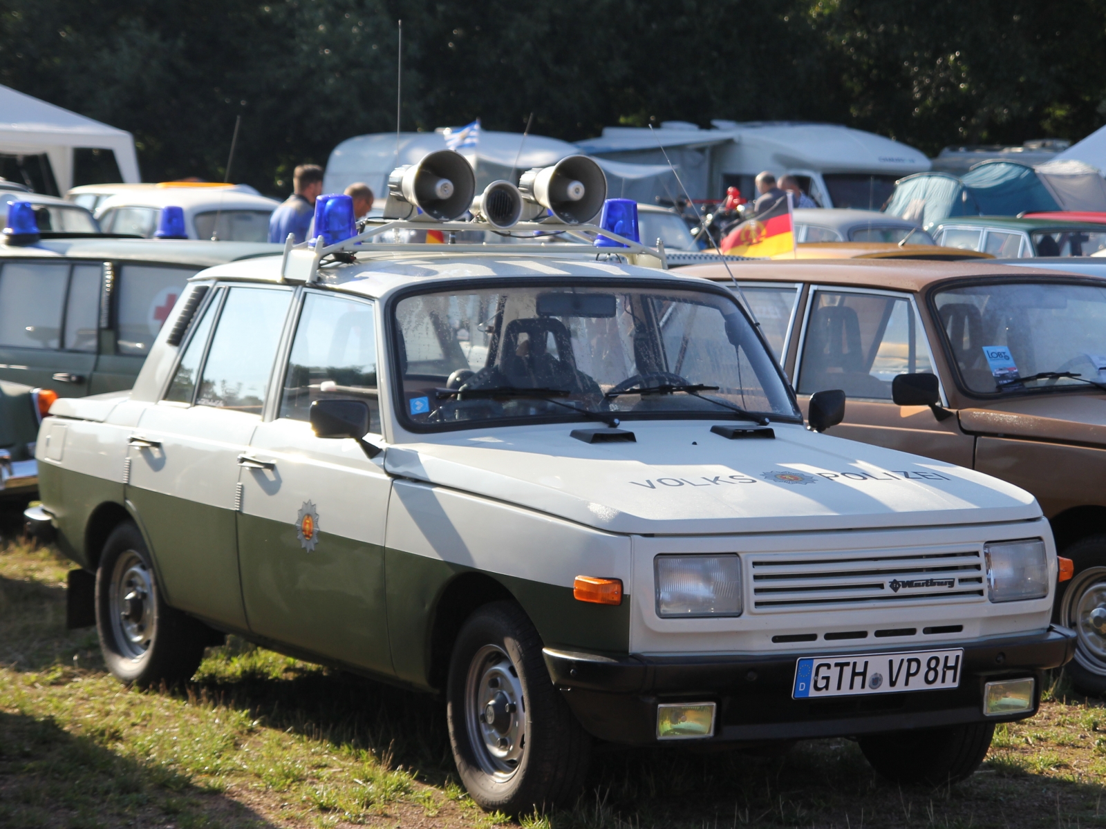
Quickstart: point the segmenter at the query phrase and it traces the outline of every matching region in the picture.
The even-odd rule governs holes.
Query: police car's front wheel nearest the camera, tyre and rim
[[[482,809],[513,817],[578,794],[591,737],[550,680],[542,640],[518,605],[497,601],[468,618],[446,700],[457,772]]]

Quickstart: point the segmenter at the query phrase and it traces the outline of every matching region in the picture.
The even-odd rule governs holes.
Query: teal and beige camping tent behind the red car
[[[1106,181],[1078,161],[1037,167],[983,161],[962,177],[948,172],[907,176],[895,186],[886,212],[929,230],[957,216],[1019,216],[1057,210],[1106,211]]]

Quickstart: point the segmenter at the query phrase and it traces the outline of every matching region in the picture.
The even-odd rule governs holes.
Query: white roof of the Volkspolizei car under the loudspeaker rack
[[[219,242],[218,244],[226,244]],[[383,248],[384,245],[382,245]],[[505,248],[507,245],[504,245]],[[281,260],[254,259],[211,267],[196,274],[192,280],[219,279],[227,281],[280,283]],[[510,249],[489,253],[427,253],[425,251],[405,253],[392,245],[387,250],[367,251],[357,254],[353,263],[337,263],[319,271],[319,280],[312,284],[356,293],[367,297],[380,297],[408,285],[441,282],[457,277],[495,276],[550,276],[595,277],[635,280],[687,281],[695,287],[695,280],[687,280],[684,269],[662,271],[616,261],[598,262],[595,253],[573,251],[551,251],[550,253],[511,253]]]

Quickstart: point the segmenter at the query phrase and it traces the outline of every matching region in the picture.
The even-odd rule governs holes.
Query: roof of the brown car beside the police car
[[[812,282],[831,285],[891,288],[918,292],[935,282],[956,277],[1039,275],[1056,279],[1054,271],[995,264],[994,260],[932,262],[895,259],[834,260],[747,260],[730,264],[734,279],[741,282]],[[680,273],[689,276],[729,282],[726,266],[719,264],[688,265]],[[1106,280],[1104,280],[1106,281]]]

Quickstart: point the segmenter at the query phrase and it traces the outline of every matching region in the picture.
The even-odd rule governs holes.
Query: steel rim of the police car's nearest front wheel
[[[526,745],[525,700],[518,669],[498,646],[486,644],[469,663],[465,724],[483,772],[498,780],[510,779]]]

